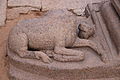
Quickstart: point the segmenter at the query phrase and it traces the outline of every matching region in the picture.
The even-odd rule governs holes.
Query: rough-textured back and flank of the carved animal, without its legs
[[[66,35],[69,30],[73,30],[74,19],[73,16],[42,16],[23,20],[13,28],[10,35],[25,33],[30,47],[49,49],[55,46],[54,40],[59,37],[57,34]]]

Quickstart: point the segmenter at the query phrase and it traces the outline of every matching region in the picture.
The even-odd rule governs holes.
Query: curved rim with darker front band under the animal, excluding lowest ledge
[[[79,80],[81,78],[91,79],[120,76],[119,65],[100,63],[99,58],[94,55],[88,55],[89,58],[83,62],[64,63],[53,61],[50,64],[43,63],[39,60],[20,58],[14,53],[8,53],[8,56],[10,65],[14,65],[25,72],[54,78],[54,80],[61,80],[62,78],[69,80],[76,78],[76,80]],[[91,57],[93,58],[92,60],[90,60]]]

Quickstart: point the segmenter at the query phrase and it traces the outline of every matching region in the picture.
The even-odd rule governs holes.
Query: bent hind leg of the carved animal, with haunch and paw
[[[51,59],[44,52],[28,50],[28,38],[25,33],[10,35],[8,47],[11,51],[17,53],[21,58],[41,58],[43,62],[51,62]]]

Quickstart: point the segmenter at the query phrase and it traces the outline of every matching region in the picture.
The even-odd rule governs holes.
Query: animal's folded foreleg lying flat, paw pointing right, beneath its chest
[[[65,48],[64,35],[60,35],[56,39],[54,52],[56,54],[54,59],[59,61],[81,61],[84,59],[83,52]]]

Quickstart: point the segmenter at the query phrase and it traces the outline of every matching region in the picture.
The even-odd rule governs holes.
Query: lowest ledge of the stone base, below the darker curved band
[[[12,65],[10,65],[9,78],[10,78],[10,80],[54,80],[52,78],[25,72],[25,71],[20,70]],[[59,79],[57,79],[57,80],[59,80]],[[66,79],[64,79],[64,77],[63,77],[61,80],[66,80]],[[67,79],[67,80],[69,80],[69,79]],[[78,79],[74,78],[72,80],[78,80]],[[115,77],[115,78],[79,79],[79,80],[120,80],[120,78]]]

